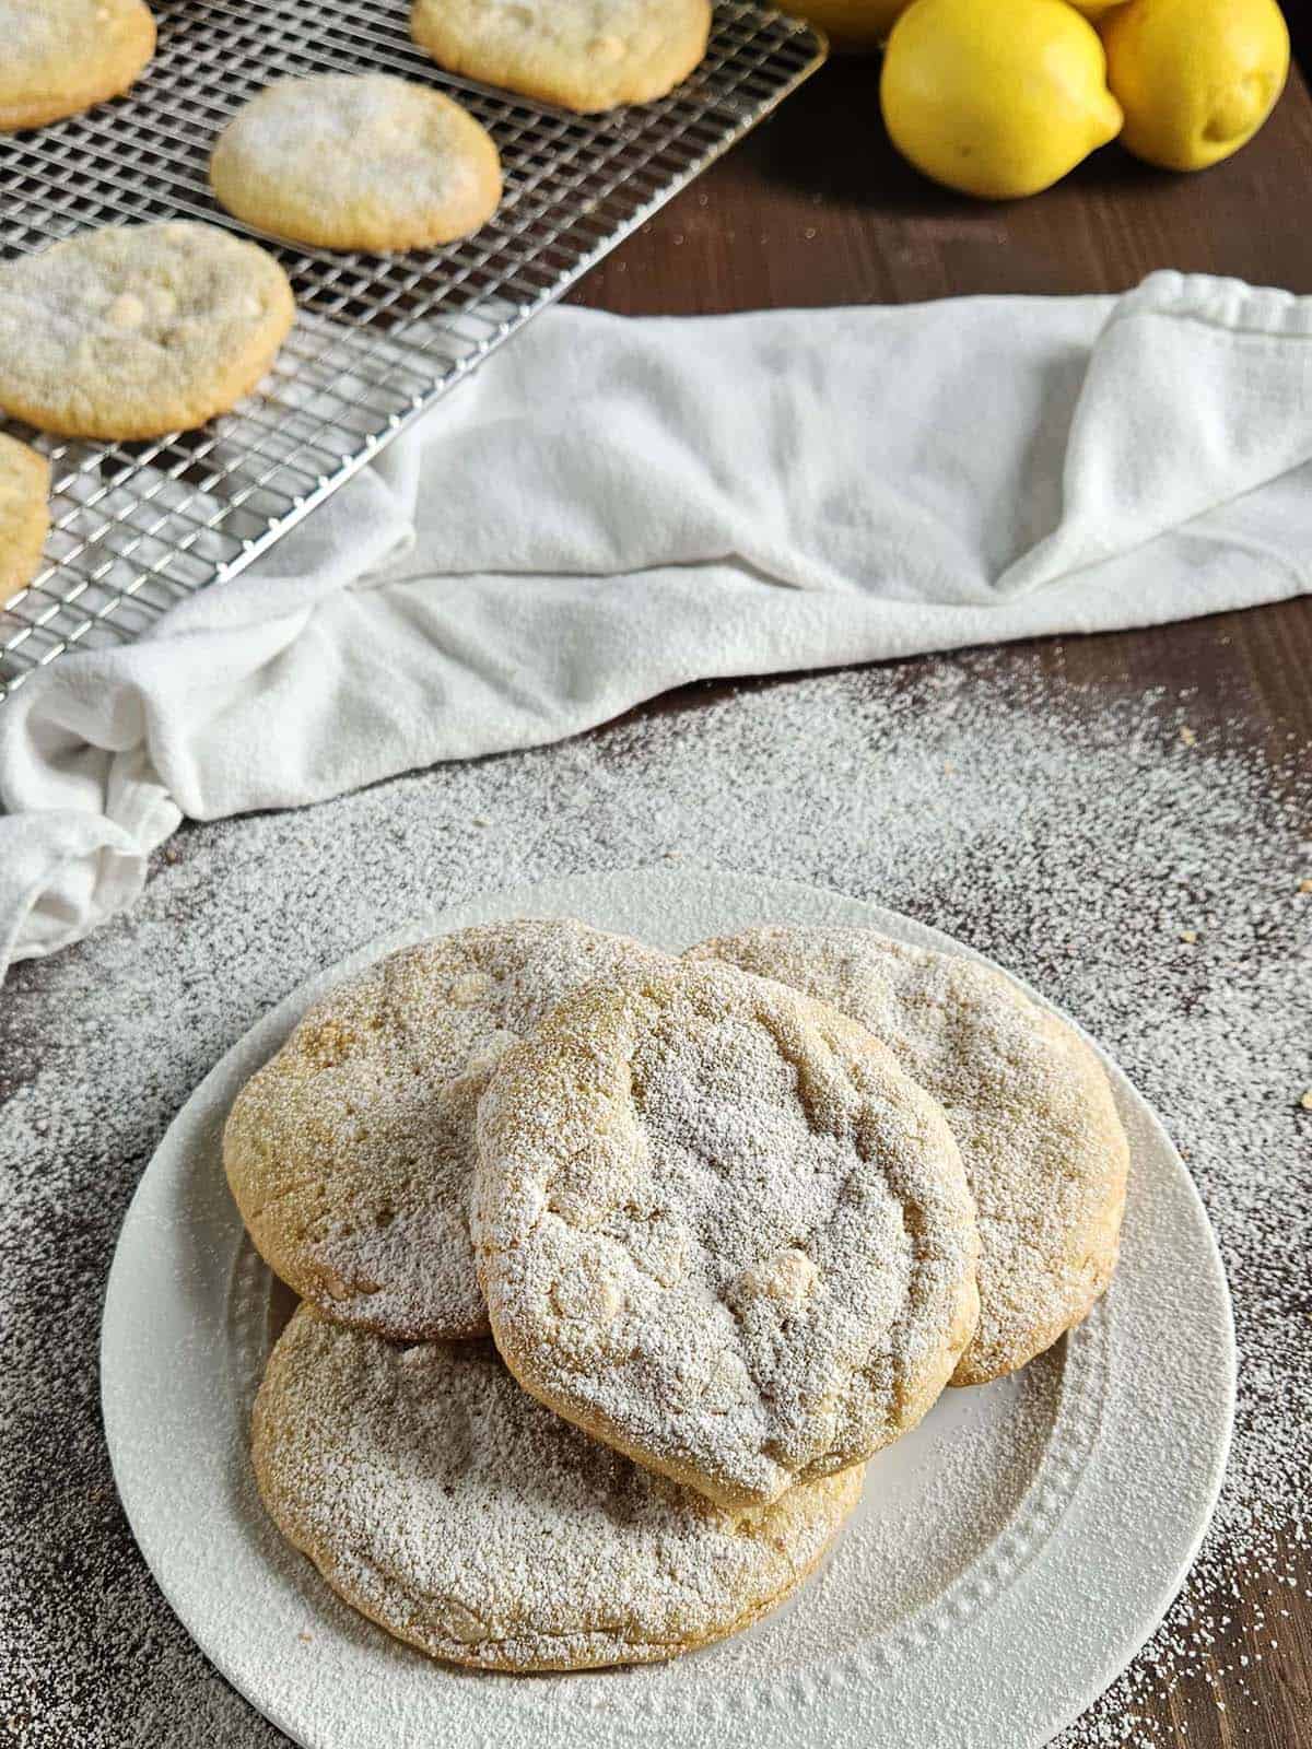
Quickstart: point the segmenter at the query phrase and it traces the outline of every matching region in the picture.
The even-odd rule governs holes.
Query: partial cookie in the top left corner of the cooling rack
[[[0,0],[0,133],[115,98],[156,52],[142,0]]]

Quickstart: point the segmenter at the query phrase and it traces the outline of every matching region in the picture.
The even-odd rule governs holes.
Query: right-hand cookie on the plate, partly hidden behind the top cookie
[[[1116,1266],[1128,1144],[1102,1063],[1002,972],[866,929],[749,929],[714,957],[833,1002],[943,1104],[980,1219],[980,1327],[953,1383],[1050,1348]]]

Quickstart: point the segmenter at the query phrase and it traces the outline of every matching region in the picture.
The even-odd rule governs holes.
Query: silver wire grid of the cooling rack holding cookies
[[[822,59],[794,19],[715,7],[710,51],[672,96],[581,117],[439,72],[406,0],[164,0],[133,91],[0,136],[0,254],[115,222],[194,217],[276,248],[299,306],[261,392],[201,430],[84,444],[21,425],[52,463],[45,568],[0,603],[0,700],[77,644],[140,637],[231,577],[409,420],[560,297]],[[500,147],[506,198],[443,250],[348,255],[278,245],[210,198],[215,135],[271,79],[394,72],[453,89]]]

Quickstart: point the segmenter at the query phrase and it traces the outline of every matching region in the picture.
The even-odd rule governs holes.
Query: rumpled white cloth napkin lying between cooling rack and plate
[[[0,969],[182,815],[556,740],[693,679],[1281,600],[1312,299],[542,315],[241,577],[0,707]]]

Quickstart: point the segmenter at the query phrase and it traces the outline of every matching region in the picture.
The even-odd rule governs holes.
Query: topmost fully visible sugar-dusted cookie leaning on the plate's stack
[[[871,1455],[976,1317],[946,1119],[836,1009],[728,965],[567,999],[479,1107],[492,1333],[560,1415],[724,1504]]]

